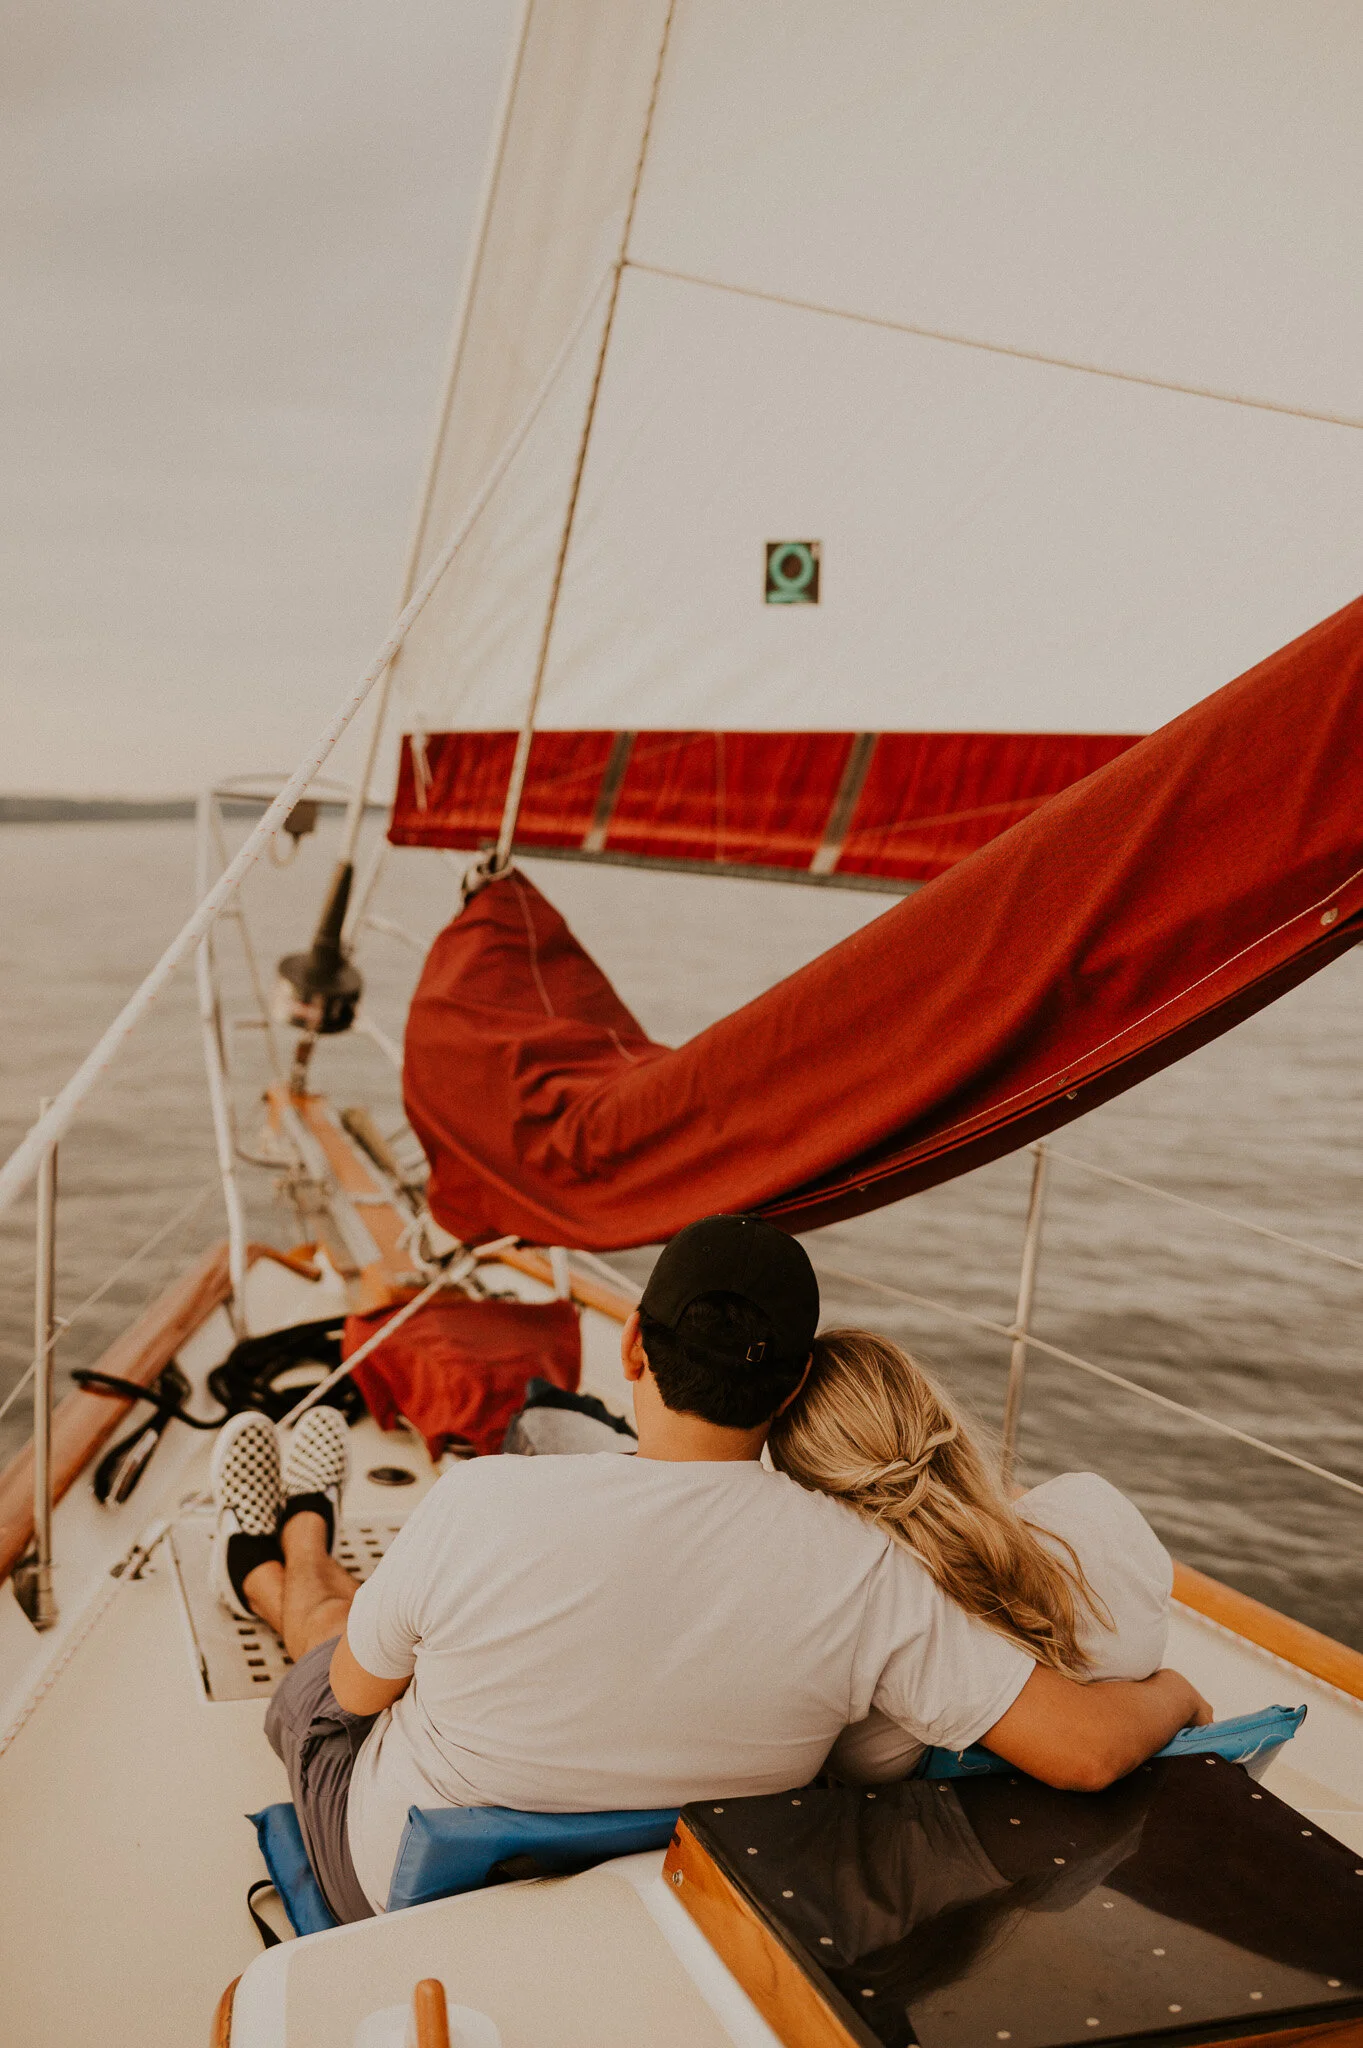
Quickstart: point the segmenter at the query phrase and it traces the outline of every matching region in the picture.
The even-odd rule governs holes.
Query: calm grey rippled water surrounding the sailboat
[[[334,840],[325,829],[284,872],[246,891],[272,971],[307,940]],[[677,1042],[858,924],[884,899],[757,883],[532,868],[645,1028]],[[192,827],[0,827],[0,1139],[14,1143],[37,1098],[88,1051],[190,905]],[[438,854],[395,854],[379,909],[430,938],[456,901]],[[223,928],[229,1010],[246,1012],[237,934]],[[362,961],[370,1014],[395,1036],[417,954],[372,936]],[[1336,961],[1228,1038],[1083,1118],[1056,1143],[1085,1159],[1363,1257],[1363,956]],[[237,1098],[250,1133],[264,1067],[239,1034]],[[913,1057],[911,1042],[907,1057]],[[325,1047],[317,1081],[366,1100],[385,1128],[401,1106],[364,1040]],[[1029,1159],[993,1167],[810,1239],[855,1272],[1007,1323]],[[192,977],[162,997],[61,1155],[59,1305],[70,1313],[160,1223],[213,1184]],[[248,1176],[252,1229],[289,1243],[291,1210]],[[221,1237],[213,1196],[121,1280],[61,1346],[92,1362],[186,1255]],[[647,1255],[620,1260],[634,1272]],[[0,1395],[31,1346],[31,1208],[0,1219]],[[837,1319],[870,1321],[941,1370],[997,1423],[1007,1346],[941,1317],[825,1286]],[[1036,1325],[1050,1341],[1363,1481],[1363,1276],[1056,1163]],[[25,1403],[0,1450],[27,1436]],[[1140,1501],[1171,1548],[1363,1649],[1363,1501],[1160,1413],[1072,1368],[1034,1360],[1023,1477],[1105,1473]]]

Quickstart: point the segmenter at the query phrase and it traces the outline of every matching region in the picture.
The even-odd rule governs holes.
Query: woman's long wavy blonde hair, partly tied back
[[[798,1399],[772,1423],[772,1462],[831,1493],[925,1565],[943,1593],[1052,1671],[1083,1677],[1081,1608],[1111,1616],[1072,1548],[1056,1559],[1005,1499],[946,1395],[866,1329],[831,1329]],[[1062,1542],[1062,1538],[1056,1538]]]

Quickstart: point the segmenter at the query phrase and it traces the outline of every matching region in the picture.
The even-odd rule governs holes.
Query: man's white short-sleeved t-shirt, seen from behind
[[[375,1677],[411,1675],[350,1784],[377,1911],[409,1806],[782,1792],[872,1706],[964,1749],[1034,1669],[839,1501],[749,1460],[610,1452],[448,1473],[346,1636]]]

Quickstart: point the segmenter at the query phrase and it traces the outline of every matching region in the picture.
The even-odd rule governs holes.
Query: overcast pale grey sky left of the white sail
[[[287,766],[364,668],[510,18],[0,4],[0,791]]]

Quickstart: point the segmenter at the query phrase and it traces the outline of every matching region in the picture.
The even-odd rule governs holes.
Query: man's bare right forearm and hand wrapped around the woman
[[[1042,1784],[1101,1792],[1162,1749],[1179,1729],[1189,1722],[1201,1729],[1210,1720],[1212,1708],[1179,1671],[1081,1686],[1038,1665],[1003,1720],[980,1741]]]

